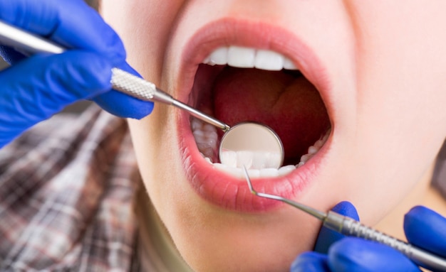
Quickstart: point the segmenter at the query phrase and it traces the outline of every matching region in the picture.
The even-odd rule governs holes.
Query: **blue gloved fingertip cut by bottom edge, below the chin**
[[[329,272],[327,256],[314,251],[299,255],[293,264],[291,272]]]

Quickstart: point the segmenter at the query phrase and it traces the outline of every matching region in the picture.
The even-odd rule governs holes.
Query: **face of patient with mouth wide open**
[[[441,0],[103,2],[130,64],[182,102],[227,122],[259,117],[293,164],[327,135],[291,173],[253,178],[257,190],[320,210],[350,200],[370,225],[420,183],[445,138],[445,10]],[[305,78],[200,65],[232,45],[280,53]],[[207,163],[188,114],[157,104],[129,124],[150,199],[196,271],[287,271],[312,249],[318,222]]]

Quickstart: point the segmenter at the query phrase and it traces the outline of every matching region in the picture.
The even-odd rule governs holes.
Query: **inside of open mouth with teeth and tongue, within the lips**
[[[330,120],[318,90],[289,58],[272,50],[217,48],[199,65],[191,97],[195,107],[229,126],[256,121],[276,131],[284,144],[284,165],[261,168],[270,163],[255,160],[249,169],[253,178],[290,173],[311,159],[328,138]],[[240,168],[219,161],[222,131],[193,117],[191,124],[203,158],[242,178]]]

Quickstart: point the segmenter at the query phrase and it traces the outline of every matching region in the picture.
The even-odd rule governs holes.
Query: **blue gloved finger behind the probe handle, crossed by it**
[[[355,206],[351,204],[351,202],[347,201],[339,202],[331,210],[333,212],[337,212],[338,214],[343,214],[347,217],[359,220],[358,212],[356,211]],[[326,227],[322,227],[321,231],[319,232],[318,238],[316,239],[316,245],[314,246],[314,251],[326,254],[331,244],[342,239],[343,237],[344,237],[343,234],[335,232],[331,229],[327,229]]]

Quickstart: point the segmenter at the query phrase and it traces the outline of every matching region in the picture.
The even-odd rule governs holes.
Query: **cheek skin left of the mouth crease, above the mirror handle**
[[[103,1],[100,13],[118,32],[128,52],[128,62],[143,77],[160,85],[168,35],[183,1]],[[165,89],[168,91],[168,89]]]

